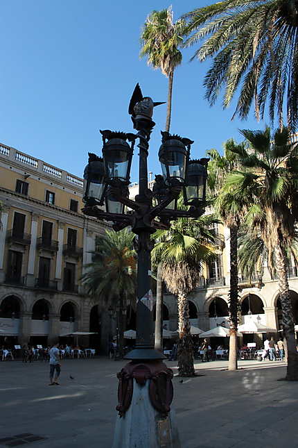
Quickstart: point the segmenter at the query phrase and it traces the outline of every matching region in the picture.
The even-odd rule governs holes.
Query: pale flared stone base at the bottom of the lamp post
[[[112,448],[181,448],[175,413],[165,415],[152,406],[149,383],[133,380],[132,401],[123,417],[117,417]]]

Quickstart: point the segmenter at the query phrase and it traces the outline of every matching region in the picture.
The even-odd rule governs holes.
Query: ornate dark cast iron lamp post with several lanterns
[[[129,106],[129,113],[137,133],[100,131],[103,136],[103,158],[89,153],[89,163],[84,172],[83,213],[112,221],[116,231],[131,226],[132,232],[137,235],[137,340],[136,348],[125,356],[130,363],[118,374],[117,410],[123,418],[122,423],[119,423],[121,436],[119,435],[119,440],[116,440],[117,437],[114,440],[115,448],[179,446],[179,442],[175,440],[177,435],[171,434],[173,423],[169,417],[170,403],[173,399],[171,381],[173,372],[162,362],[165,357],[154,349],[153,343],[150,235],[156,229],[168,229],[170,220],[178,217],[200,217],[204,213],[209,159],[190,160],[192,140],[161,132],[159,161],[162,176],[155,177],[152,190],[148,188],[149,140],[152,128],[155,126],[152,113],[153,107],[158,104],[153,103],[149,97],[143,97],[137,84]],[[139,194],[132,201],[129,199],[128,185],[136,141],[139,148]],[[180,192],[183,192],[184,204],[189,206],[186,210],[176,208]],[[153,205],[153,199],[156,205]],[[141,391],[141,388],[148,390],[150,402],[148,400],[147,403],[155,412],[152,422],[148,422],[146,418],[144,425],[154,425],[157,430],[151,429],[155,435],[148,435],[150,429],[142,430],[139,424],[137,428],[139,438],[136,442],[135,439],[129,438],[131,434],[128,433],[131,431],[124,426],[126,414],[131,411],[132,406],[137,406],[134,399],[134,393],[137,393],[135,390]],[[126,419],[128,426],[128,420],[131,421],[133,418]],[[139,415],[136,418],[139,419]],[[153,438],[149,440],[148,437]],[[137,445],[134,445],[135,443]]]

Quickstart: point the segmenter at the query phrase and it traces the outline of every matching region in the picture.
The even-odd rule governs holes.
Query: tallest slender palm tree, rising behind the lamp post
[[[165,131],[170,131],[170,117],[172,113],[173,77],[175,68],[182,63],[182,33],[184,20],[173,22],[173,11],[168,9],[152,11],[148,15],[141,33],[140,56],[148,57],[148,65],[154,69],[161,69],[161,73],[168,78],[168,101],[166,111]],[[155,349],[162,351],[162,280],[161,266],[157,265],[156,318],[155,318]]]

